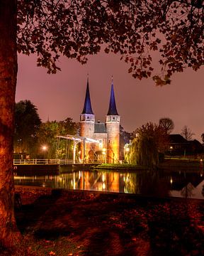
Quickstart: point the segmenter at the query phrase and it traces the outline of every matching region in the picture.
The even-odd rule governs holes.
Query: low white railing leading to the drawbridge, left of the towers
[[[73,160],[65,159],[13,159],[13,165],[19,164],[73,164]]]

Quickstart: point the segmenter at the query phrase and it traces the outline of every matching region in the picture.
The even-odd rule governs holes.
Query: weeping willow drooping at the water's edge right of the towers
[[[130,162],[156,169],[159,164],[159,152],[168,144],[165,130],[152,122],[136,129],[132,140]]]

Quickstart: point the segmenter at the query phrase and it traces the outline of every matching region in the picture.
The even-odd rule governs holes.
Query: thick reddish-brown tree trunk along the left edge
[[[20,238],[14,216],[13,128],[17,79],[16,0],[0,1],[0,244]]]

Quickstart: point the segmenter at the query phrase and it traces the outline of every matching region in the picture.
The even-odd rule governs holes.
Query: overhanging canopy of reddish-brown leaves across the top
[[[168,85],[175,72],[204,63],[203,8],[202,1],[18,0],[18,52],[37,53],[38,65],[56,73],[60,55],[84,64],[105,45],[129,63],[134,78]]]

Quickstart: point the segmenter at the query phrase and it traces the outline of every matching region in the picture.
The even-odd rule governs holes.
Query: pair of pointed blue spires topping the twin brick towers
[[[87,79],[87,85],[86,85],[86,97],[84,101],[84,109],[81,114],[94,114],[92,107],[91,107],[91,98],[90,98],[90,92],[89,92],[89,78]],[[111,82],[111,97],[109,102],[109,108],[108,108],[108,114],[107,115],[118,115],[118,111],[115,104],[115,94],[113,89],[113,78]]]

